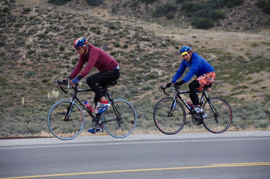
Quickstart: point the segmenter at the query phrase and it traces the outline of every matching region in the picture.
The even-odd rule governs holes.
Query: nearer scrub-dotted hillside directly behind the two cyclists
[[[209,94],[231,104],[235,127],[269,126],[269,29],[256,33],[182,29],[112,16],[98,7],[70,11],[69,3],[60,7],[34,0],[25,1],[27,5],[14,0],[0,3],[1,135],[48,131],[50,106],[69,98],[55,91],[53,80],[64,79],[75,67],[78,55],[72,44],[84,36],[120,64],[119,85],[111,91],[132,102],[138,128],[154,127],[153,108],[165,97],[158,85],[168,83],[178,69],[182,45],[191,46],[214,66],[216,82]],[[81,87],[87,88],[82,82]],[[80,97],[91,101],[93,95]],[[193,125],[190,120],[186,124]]]

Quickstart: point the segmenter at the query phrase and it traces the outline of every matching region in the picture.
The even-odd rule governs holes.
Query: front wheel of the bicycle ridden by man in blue
[[[175,106],[173,114],[178,114],[177,116],[168,115],[172,110],[173,98],[161,99],[155,106],[153,113],[154,122],[158,130],[164,134],[176,134],[185,124],[186,111],[179,101],[176,104],[178,106]]]

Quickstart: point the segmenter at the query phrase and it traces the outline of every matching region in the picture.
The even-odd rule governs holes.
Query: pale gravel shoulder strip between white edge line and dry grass
[[[210,132],[200,133],[177,133],[166,134],[131,134],[125,138],[114,138],[112,136],[79,136],[72,140],[60,140],[58,138],[27,138],[0,140],[0,146],[27,146],[27,145],[53,145],[53,144],[83,144],[83,143],[108,143],[108,142],[143,142],[158,140],[186,140],[186,139],[229,139],[229,138],[254,138],[270,137],[270,131],[235,131],[214,134]]]

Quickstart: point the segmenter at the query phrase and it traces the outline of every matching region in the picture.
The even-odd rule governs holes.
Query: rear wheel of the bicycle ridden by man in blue
[[[215,106],[218,116],[210,117],[215,115],[213,111],[213,106]],[[211,98],[211,103],[206,101],[203,104],[203,125],[204,127],[212,133],[223,133],[226,131],[232,123],[232,109],[228,102],[220,97]],[[209,116],[209,118],[207,118]]]

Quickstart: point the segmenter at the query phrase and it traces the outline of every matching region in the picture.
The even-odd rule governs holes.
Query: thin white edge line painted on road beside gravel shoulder
[[[35,147],[10,147],[0,149],[22,149],[22,148],[38,148],[38,147],[67,147],[67,146],[89,146],[89,145],[115,145],[115,144],[149,144],[149,143],[168,143],[168,142],[200,142],[200,141],[236,141],[236,140],[263,140],[270,138],[243,138],[243,139],[216,139],[216,140],[191,140],[191,141],[156,141],[156,142],[126,142],[126,143],[108,143],[108,144],[77,144],[77,145],[50,145]]]

